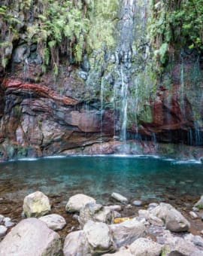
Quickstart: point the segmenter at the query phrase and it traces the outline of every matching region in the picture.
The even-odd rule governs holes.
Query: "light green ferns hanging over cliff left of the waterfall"
[[[2,66],[11,57],[8,44],[26,41],[37,44],[44,71],[51,64],[58,72],[59,54],[74,62],[83,53],[114,45],[114,20],[118,0],[7,0],[0,8]],[[26,35],[26,36],[25,36]]]

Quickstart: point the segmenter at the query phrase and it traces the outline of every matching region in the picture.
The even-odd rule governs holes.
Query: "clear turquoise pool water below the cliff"
[[[0,163],[0,197],[22,200],[41,190],[64,200],[83,193],[108,203],[112,192],[130,200],[203,194],[201,163],[155,157],[65,157]]]

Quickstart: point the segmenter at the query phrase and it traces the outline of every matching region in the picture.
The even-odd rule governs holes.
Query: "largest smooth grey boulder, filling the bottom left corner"
[[[0,243],[0,255],[61,255],[60,236],[37,218],[20,221]]]

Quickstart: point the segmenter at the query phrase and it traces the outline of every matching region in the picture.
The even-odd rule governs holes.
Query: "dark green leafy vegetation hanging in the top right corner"
[[[203,0],[152,0],[150,38],[158,61],[180,48],[203,51]]]

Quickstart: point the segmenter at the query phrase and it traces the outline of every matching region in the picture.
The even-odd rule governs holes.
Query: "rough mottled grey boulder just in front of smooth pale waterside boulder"
[[[112,224],[114,221],[114,211],[107,206],[103,207],[96,203],[87,203],[82,209],[80,209],[80,227],[83,228],[87,221],[98,221],[107,224]]]

